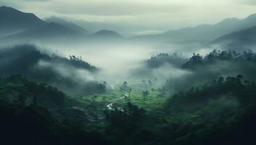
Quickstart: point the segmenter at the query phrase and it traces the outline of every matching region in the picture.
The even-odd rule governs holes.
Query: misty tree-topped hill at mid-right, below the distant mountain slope
[[[217,51],[202,57],[194,54],[182,66],[183,75],[172,77],[165,84],[167,92],[186,91],[187,88],[202,85],[220,76],[242,74],[247,80],[256,81],[256,54],[252,51]]]

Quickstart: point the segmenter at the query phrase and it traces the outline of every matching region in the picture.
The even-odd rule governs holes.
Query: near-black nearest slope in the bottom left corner
[[[44,107],[18,107],[0,100],[1,144],[107,144],[101,133],[60,123]]]

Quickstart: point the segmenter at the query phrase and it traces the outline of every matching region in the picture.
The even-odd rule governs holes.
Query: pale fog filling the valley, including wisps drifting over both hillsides
[[[12,43],[11,46],[22,43]],[[67,86],[80,81],[83,85],[78,85],[78,91],[84,90],[84,87],[91,89],[91,80],[94,80],[94,86],[101,88],[99,83],[107,82],[107,86],[112,88],[117,84],[120,85],[124,81],[128,83],[138,83],[142,80],[152,80],[154,87],[161,88],[168,86],[170,91],[181,91],[183,89],[189,89],[192,86],[198,86],[202,83],[206,83],[212,79],[216,79],[220,76],[233,76],[238,73],[243,75],[252,76],[248,69],[244,70],[244,65],[237,65],[234,62],[215,62],[209,64],[210,69],[206,66],[201,66],[200,69],[184,69],[181,67],[183,64],[189,61],[194,54],[201,54],[206,56],[213,49],[220,49],[218,46],[203,46],[200,44],[171,44],[171,43],[152,43],[152,42],[138,42],[138,41],[86,41],[86,42],[63,42],[62,43],[30,43],[35,45],[36,48],[47,54],[57,54],[58,56],[65,57],[67,59],[70,56],[76,58],[82,58],[83,61],[90,63],[91,65],[99,68],[99,71],[90,72],[86,69],[78,69],[70,67],[70,65],[56,62],[49,67],[49,63],[39,61],[37,64],[38,71],[51,70],[53,74],[61,75],[65,78]],[[6,45],[10,46],[10,44]],[[1,48],[5,48],[1,44]],[[239,52],[242,52],[239,51]],[[162,54],[159,57],[159,54]],[[169,54],[166,58],[165,54]],[[157,60],[154,59],[156,56]],[[176,57],[173,57],[176,56]],[[150,62],[149,60],[153,61]],[[152,63],[152,64],[150,64]],[[157,63],[157,64],[155,64]],[[224,65],[227,64],[228,65]],[[245,64],[245,62],[242,62]],[[48,65],[47,65],[48,64]],[[43,68],[45,66],[47,68]],[[245,64],[250,65],[249,62]],[[58,68],[58,66],[62,66]],[[232,67],[231,66],[236,66]],[[54,69],[54,67],[56,67]],[[61,73],[60,73],[61,72]],[[251,71],[252,72],[252,71]],[[41,72],[41,74],[48,74],[48,72]],[[80,76],[86,75],[86,76]],[[54,78],[55,79],[55,78]],[[50,84],[59,86],[59,78],[52,80]],[[61,80],[64,81],[64,80]],[[68,82],[68,83],[67,83]],[[78,82],[79,84],[79,82]],[[83,87],[81,87],[83,86]],[[76,89],[76,88],[74,88]]]

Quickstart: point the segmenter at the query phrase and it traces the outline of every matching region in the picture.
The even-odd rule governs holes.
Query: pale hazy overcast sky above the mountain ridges
[[[255,0],[0,0],[0,5],[88,21],[182,28],[256,13]]]

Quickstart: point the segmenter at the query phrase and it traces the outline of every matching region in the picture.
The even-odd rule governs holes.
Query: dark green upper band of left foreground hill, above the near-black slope
[[[86,115],[93,115],[90,112],[80,112],[74,109],[73,107],[78,107],[84,110],[85,106],[70,99],[57,88],[28,81],[20,75],[1,79],[0,99],[19,107],[31,104],[40,105],[57,116],[59,120],[73,120],[76,123],[87,123],[89,120]],[[85,113],[86,115],[84,115]]]

